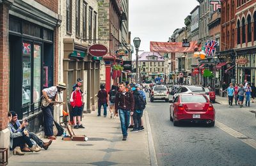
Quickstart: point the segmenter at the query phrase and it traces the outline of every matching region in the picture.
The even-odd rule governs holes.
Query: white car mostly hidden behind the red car
[[[173,100],[179,94],[186,94],[186,93],[205,94],[208,100],[210,100],[209,93],[205,91],[205,87],[202,87],[202,86],[180,86],[177,93],[173,95]]]

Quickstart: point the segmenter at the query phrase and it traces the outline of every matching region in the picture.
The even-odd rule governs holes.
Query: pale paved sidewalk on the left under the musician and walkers
[[[108,117],[97,117],[96,111],[84,114],[85,129],[74,132],[85,134],[88,141],[64,141],[58,137],[47,151],[12,155],[9,165],[157,165],[147,111],[143,121],[145,130],[132,133],[129,129],[127,140],[123,141],[119,117],[110,119],[109,112]]]

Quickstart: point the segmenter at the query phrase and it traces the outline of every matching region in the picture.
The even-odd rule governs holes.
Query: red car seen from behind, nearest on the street
[[[178,126],[180,121],[215,124],[215,109],[207,96],[202,94],[180,94],[170,104],[170,121]]]

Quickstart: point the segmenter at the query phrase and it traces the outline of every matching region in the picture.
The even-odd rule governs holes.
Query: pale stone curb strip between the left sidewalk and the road
[[[153,141],[153,137],[152,137],[152,131],[151,131],[147,111],[145,111],[145,120],[147,123],[148,150],[149,150],[149,157],[150,157],[150,165],[157,165],[156,151],[155,151],[155,147],[154,147],[154,141]]]

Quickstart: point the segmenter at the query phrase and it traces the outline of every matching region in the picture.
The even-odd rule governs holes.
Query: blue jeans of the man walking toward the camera
[[[119,109],[119,117],[121,121],[121,128],[124,137],[127,137],[127,130],[130,123],[130,110]]]

